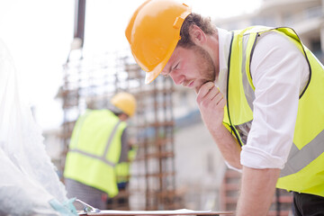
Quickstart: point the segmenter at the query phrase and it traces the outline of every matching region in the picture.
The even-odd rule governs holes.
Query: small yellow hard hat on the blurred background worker
[[[125,112],[130,117],[136,111],[136,99],[132,94],[121,92],[115,94],[112,99],[111,103],[120,109],[122,112]]]

